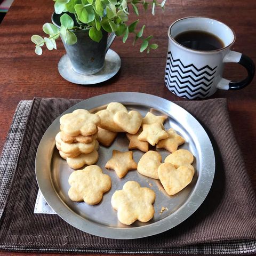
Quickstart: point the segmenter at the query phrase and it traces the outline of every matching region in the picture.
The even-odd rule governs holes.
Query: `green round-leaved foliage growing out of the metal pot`
[[[67,44],[75,44],[77,37],[75,30],[89,30],[90,38],[95,42],[100,42],[102,29],[108,33],[115,33],[116,36],[123,36],[125,43],[130,34],[134,35],[133,45],[140,40],[140,52],[150,49],[157,49],[158,45],[150,43],[153,36],[143,37],[145,25],[137,29],[138,20],[128,24],[129,10],[139,16],[139,6],[142,5],[145,11],[151,7],[151,13],[155,15],[155,7],[164,9],[166,0],[158,3],[157,0],[53,0],[54,11],[61,14],[58,28],[52,23],[45,23],[43,31],[47,37],[39,35],[31,36],[31,41],[36,44],[35,53],[42,54],[42,46],[45,44],[48,50],[57,49],[55,40],[60,36]],[[73,15],[74,19],[70,16]],[[74,23],[75,21],[75,23]]]

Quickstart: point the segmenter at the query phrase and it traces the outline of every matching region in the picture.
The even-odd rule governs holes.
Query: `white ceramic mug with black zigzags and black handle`
[[[213,51],[193,50],[175,41],[180,33],[200,30],[211,33],[224,47]],[[239,90],[250,84],[255,73],[253,61],[246,55],[230,50],[235,34],[224,23],[205,17],[187,17],[172,23],[168,30],[169,45],[165,69],[165,85],[182,98],[210,97],[218,89]],[[222,78],[224,63],[235,62],[247,69],[248,76],[239,82]]]

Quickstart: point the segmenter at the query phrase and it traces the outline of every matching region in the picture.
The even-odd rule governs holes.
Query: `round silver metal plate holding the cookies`
[[[111,158],[113,149],[128,150],[129,141],[124,133],[120,133],[113,145],[109,148],[100,146],[99,149],[97,165],[102,168],[103,173],[110,175],[111,189],[103,195],[103,199],[98,205],[73,202],[68,197],[70,187],[68,178],[74,170],[68,167],[55,148],[55,135],[59,132],[60,126],[59,116],[43,135],[36,154],[36,178],[46,202],[70,225],[101,237],[140,238],[162,233],[177,226],[197,210],[211,188],[215,172],[215,159],[208,135],[201,124],[185,109],[168,100],[143,93],[117,92],[99,95],[76,104],[63,114],[71,113],[79,108],[95,113],[106,108],[109,102],[121,102],[129,110],[140,111],[142,116],[145,116],[148,111],[157,115],[167,115],[165,128],[173,127],[185,138],[186,143],[179,148],[188,149],[195,156],[193,163],[195,175],[192,182],[178,194],[169,196],[165,193],[159,180],[145,177],[137,170],[129,171],[124,178],[119,179],[115,171],[107,170],[104,166]],[[154,148],[154,150],[156,149]],[[161,153],[163,160],[170,154],[164,149],[157,149],[157,151]],[[133,150],[133,155],[134,160],[138,163],[143,153]],[[110,200],[115,190],[122,189],[124,183],[129,180],[138,181],[141,187],[149,187],[156,193],[155,215],[147,223],[136,221],[131,226],[123,225],[118,221],[117,212],[111,206]],[[167,207],[168,210],[161,213],[162,206]]]

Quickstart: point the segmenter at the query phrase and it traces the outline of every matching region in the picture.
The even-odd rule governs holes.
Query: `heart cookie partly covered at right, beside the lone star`
[[[157,169],[161,165],[161,161],[162,156],[158,152],[150,150],[140,158],[137,170],[142,175],[159,179]]]

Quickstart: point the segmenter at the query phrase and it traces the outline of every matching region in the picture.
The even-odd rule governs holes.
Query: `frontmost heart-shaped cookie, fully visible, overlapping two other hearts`
[[[166,193],[172,196],[189,185],[193,179],[193,171],[189,166],[176,169],[171,163],[163,163],[158,167],[158,176]]]

